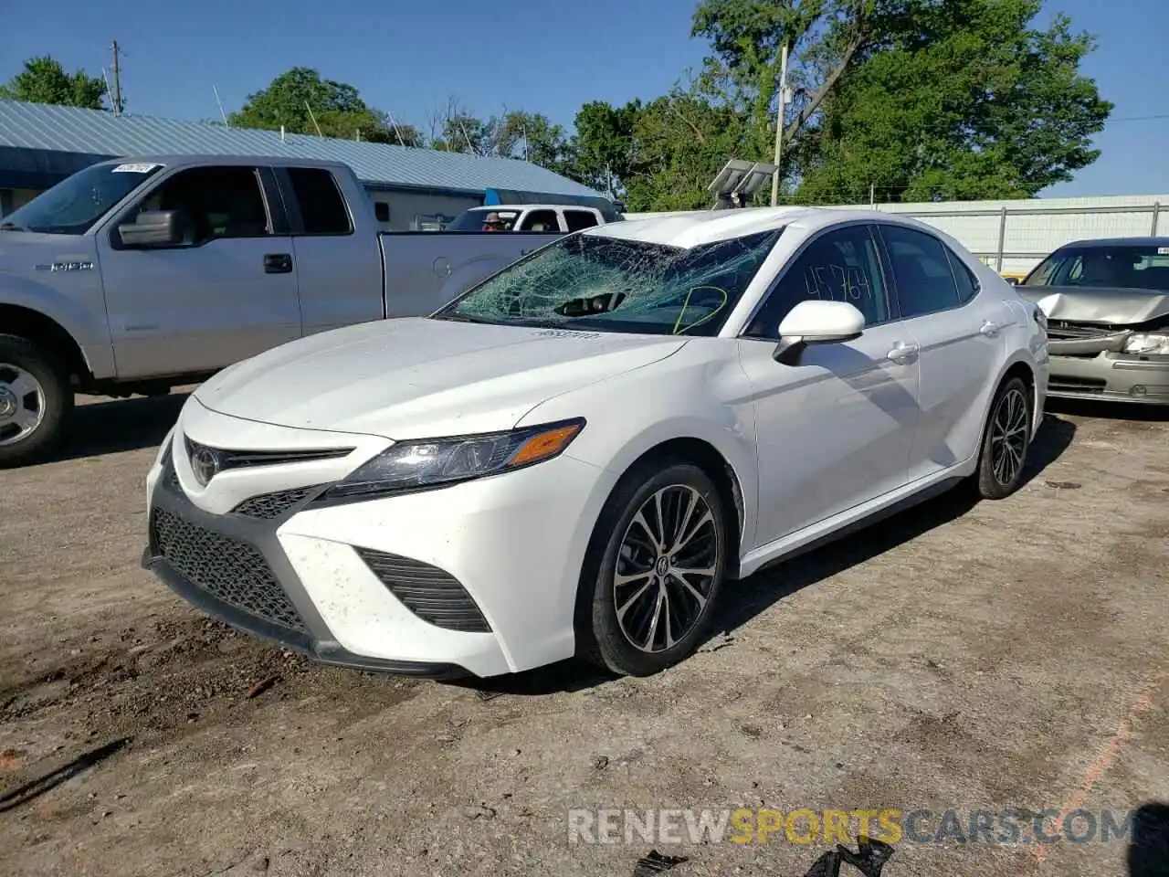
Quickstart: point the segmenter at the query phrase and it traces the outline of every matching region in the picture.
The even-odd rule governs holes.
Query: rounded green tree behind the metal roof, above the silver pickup
[[[289,133],[421,146],[422,134],[413,125],[397,123],[361,99],[347,83],[323,80],[317,70],[295,67],[268,88],[248,95],[244,105],[228,115],[234,127],[258,127]]]

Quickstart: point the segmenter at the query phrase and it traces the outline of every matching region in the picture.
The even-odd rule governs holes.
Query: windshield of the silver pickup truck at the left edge
[[[101,164],[42,192],[4,221],[6,230],[82,235],[122,199],[162,168],[158,164]]]

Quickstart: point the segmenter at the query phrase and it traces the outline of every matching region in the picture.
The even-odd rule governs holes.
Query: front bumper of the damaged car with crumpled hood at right
[[[1047,395],[1056,399],[1169,405],[1169,361],[1139,359],[1122,353],[1050,357]]]

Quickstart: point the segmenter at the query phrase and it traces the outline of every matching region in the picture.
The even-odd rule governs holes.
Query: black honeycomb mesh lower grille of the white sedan
[[[290,630],[305,631],[304,621],[264,555],[247,543],[154,509],[151,546],[177,573],[224,603]]]

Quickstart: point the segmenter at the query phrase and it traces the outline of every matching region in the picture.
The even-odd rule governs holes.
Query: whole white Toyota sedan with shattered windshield
[[[729,580],[952,485],[1010,495],[1046,382],[1038,309],[912,220],[617,222],[202,385],[144,564],[327,663],[652,674]]]

